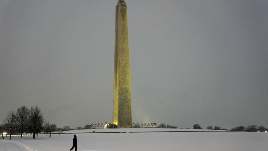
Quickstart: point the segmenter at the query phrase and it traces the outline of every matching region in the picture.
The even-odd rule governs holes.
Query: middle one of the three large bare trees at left
[[[20,137],[22,138],[22,132],[23,132],[23,126],[25,124],[25,121],[27,120],[29,116],[30,110],[26,106],[22,106],[17,109],[16,113],[16,120],[18,121],[18,124],[20,126]]]

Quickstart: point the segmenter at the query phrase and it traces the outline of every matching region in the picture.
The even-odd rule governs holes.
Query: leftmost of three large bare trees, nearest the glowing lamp
[[[17,121],[15,117],[16,117],[15,112],[9,111],[7,113],[7,116],[3,120],[4,126],[7,128],[10,134],[9,139],[11,139],[11,134],[15,130],[15,127],[17,126]]]

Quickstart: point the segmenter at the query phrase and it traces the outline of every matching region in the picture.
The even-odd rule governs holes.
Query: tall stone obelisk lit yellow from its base
[[[115,64],[112,120],[117,125],[117,128],[132,127],[127,4],[124,0],[118,0],[115,12]]]

